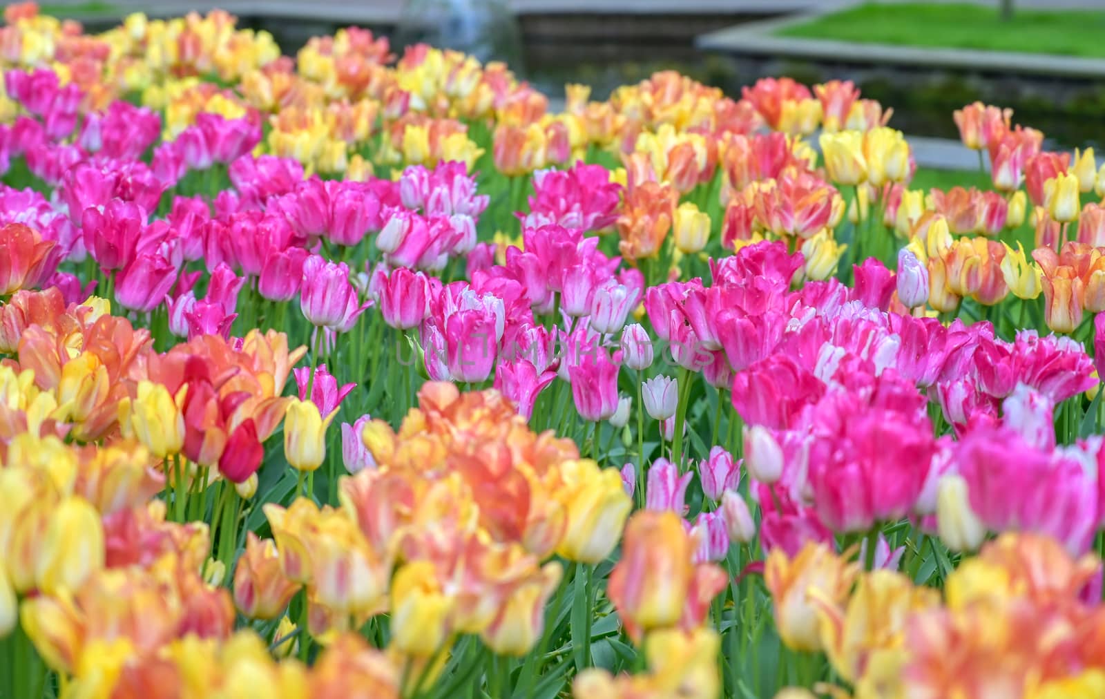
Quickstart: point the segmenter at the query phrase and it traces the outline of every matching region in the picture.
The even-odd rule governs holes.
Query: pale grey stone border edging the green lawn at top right
[[[775,32],[806,23],[822,14],[846,9],[854,2],[834,3],[813,12],[751,22],[699,35],[703,51],[772,59],[803,59],[859,65],[950,69],[974,73],[1033,75],[1056,79],[1105,79],[1105,59],[1080,59],[1046,53],[1014,53],[974,49],[924,49],[893,44],[851,43],[827,39],[776,36]]]

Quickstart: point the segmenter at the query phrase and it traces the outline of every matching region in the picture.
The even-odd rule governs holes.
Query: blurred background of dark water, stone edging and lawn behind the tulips
[[[1012,107],[1052,147],[1099,146],[1105,114],[1105,0],[53,0],[42,11],[95,31],[137,10],[214,7],[288,55],[357,24],[399,53],[427,41],[505,60],[554,106],[565,83],[603,98],[672,69],[730,95],[765,75],[853,80],[896,108],[897,128],[935,138],[955,138],[951,111],[975,100]]]

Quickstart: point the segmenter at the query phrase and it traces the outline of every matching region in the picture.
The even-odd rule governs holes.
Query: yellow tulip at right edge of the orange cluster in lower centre
[[[621,540],[633,501],[625,494],[617,469],[599,469],[590,460],[560,465],[564,488],[556,497],[568,522],[557,544],[557,554],[569,561],[596,564],[604,561]]]

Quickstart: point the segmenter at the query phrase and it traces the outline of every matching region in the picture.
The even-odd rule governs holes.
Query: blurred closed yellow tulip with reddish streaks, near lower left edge
[[[35,581],[41,592],[75,592],[104,566],[104,530],[99,513],[80,497],[65,498],[50,514]]]

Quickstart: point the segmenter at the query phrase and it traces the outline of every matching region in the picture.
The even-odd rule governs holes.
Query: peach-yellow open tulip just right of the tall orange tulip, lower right
[[[825,544],[808,542],[793,559],[774,549],[764,566],[764,584],[775,601],[775,622],[782,643],[792,650],[821,650],[818,605],[842,605],[857,573],[854,563]]]

